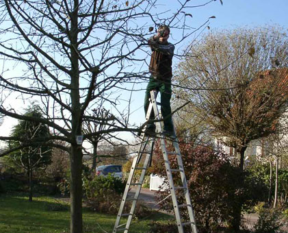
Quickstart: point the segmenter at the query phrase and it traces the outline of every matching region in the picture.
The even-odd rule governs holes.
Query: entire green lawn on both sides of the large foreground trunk
[[[99,214],[83,209],[84,233],[111,233],[116,216]],[[129,232],[148,232],[152,220],[167,221],[166,214],[154,213],[144,221],[132,221]],[[53,197],[27,197],[0,195],[0,232],[5,233],[65,233],[69,232],[68,204]]]

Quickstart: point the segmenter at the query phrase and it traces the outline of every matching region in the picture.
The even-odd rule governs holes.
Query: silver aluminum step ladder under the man
[[[152,111],[154,111],[155,124],[156,124],[156,138],[160,139],[160,145],[161,145],[161,150],[163,153],[163,159],[164,159],[164,163],[165,163],[165,167],[166,167],[166,173],[167,173],[169,188],[170,188],[170,195],[172,197],[172,203],[174,206],[174,214],[176,217],[176,224],[177,224],[178,231],[179,231],[179,233],[190,233],[190,232],[191,233],[197,233],[194,211],[192,208],[192,202],[190,199],[189,190],[187,188],[187,180],[185,177],[183,162],[182,162],[181,153],[180,153],[180,149],[179,149],[178,138],[176,138],[176,136],[173,138],[172,137],[166,138],[165,136],[163,136],[161,134],[161,132],[163,132],[163,130],[162,130],[163,127],[161,126],[161,121],[163,121],[163,120],[161,117],[161,112],[159,112],[159,110],[157,108],[157,105],[160,105],[160,103],[157,103],[157,101],[156,101],[157,91],[151,90],[150,96],[151,96],[150,97],[150,104],[148,106],[148,110],[147,110],[147,114],[146,114],[146,121],[148,121],[148,119],[150,119],[150,114]],[[116,232],[128,233],[129,227],[131,225],[131,221],[133,218],[133,214],[135,211],[135,207],[136,207],[139,195],[140,195],[140,191],[142,188],[142,183],[144,181],[144,176],[145,176],[146,170],[152,162],[152,154],[153,154],[153,146],[155,143],[155,136],[145,135],[145,133],[144,133],[145,130],[146,130],[146,126],[144,126],[144,130],[141,134],[142,143],[140,145],[140,150],[138,152],[138,156],[136,156],[133,159],[131,171],[129,173],[127,185],[125,187],[125,192],[123,194],[120,208],[119,208],[119,211],[117,214],[116,223],[114,225],[113,233],[116,233]],[[167,149],[167,143],[169,141],[172,142],[172,146],[174,147],[173,151],[168,151],[168,149]],[[144,158],[144,162],[141,165],[140,160],[142,160],[142,156],[143,156],[143,158],[144,158],[144,156],[146,156],[146,157]],[[171,156],[176,156],[176,159],[178,162],[178,168],[177,169],[171,169],[170,168],[169,158]],[[133,179],[134,173],[136,170],[142,170],[140,178],[137,182],[133,181],[134,180]],[[182,183],[180,186],[174,186],[174,180],[173,180],[173,175],[172,175],[173,173],[180,173],[181,183]],[[136,187],[135,194],[133,194],[133,195],[131,195],[131,192],[130,192],[131,186]],[[183,191],[183,195],[185,197],[185,204],[179,204],[179,201],[178,201],[177,196],[176,196],[176,190],[178,190],[178,189],[181,189]],[[130,211],[127,213],[123,213],[125,210],[125,204],[128,204],[128,203],[131,204]],[[186,212],[189,215],[189,221],[186,221],[186,222],[183,221],[183,219],[181,217],[181,213],[183,213],[183,212]],[[122,221],[123,223],[120,223],[120,220],[122,217],[128,217],[127,221],[124,221],[124,222]],[[185,225],[190,225],[189,232],[184,231]]]

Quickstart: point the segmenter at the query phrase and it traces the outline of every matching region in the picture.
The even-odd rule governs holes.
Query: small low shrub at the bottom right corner
[[[276,233],[282,226],[280,212],[263,209],[259,212],[259,219],[254,225],[254,233]]]

